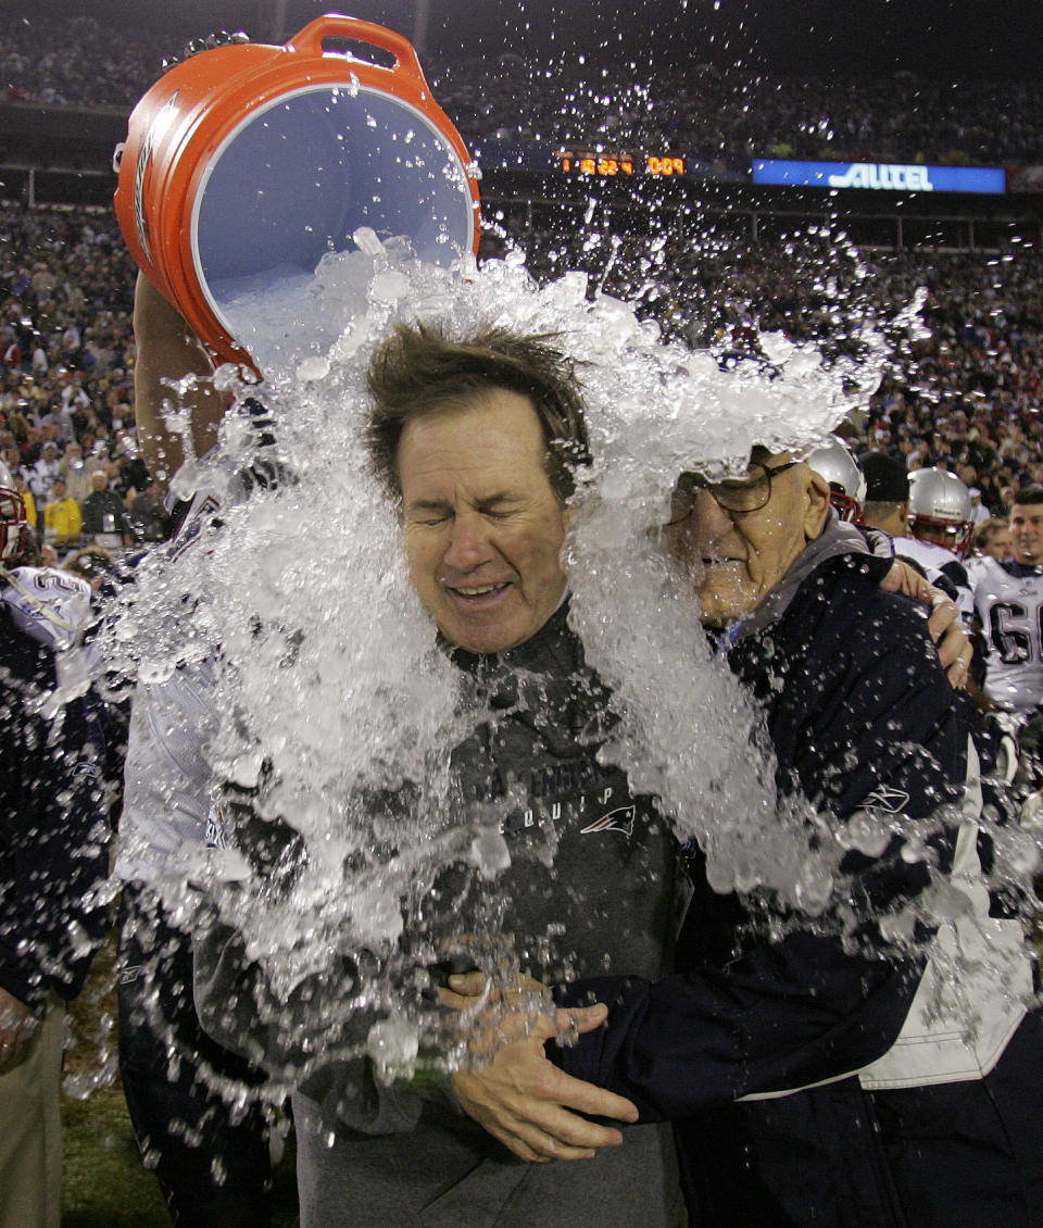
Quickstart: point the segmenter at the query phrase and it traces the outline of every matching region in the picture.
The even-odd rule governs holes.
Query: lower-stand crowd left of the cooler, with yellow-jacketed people
[[[0,458],[32,523],[65,551],[155,539],[134,443],[134,270],[114,217],[4,209],[0,286]]]

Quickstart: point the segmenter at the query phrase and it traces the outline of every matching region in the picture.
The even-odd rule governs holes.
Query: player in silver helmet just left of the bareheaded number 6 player
[[[918,562],[933,585],[952,592],[969,626],[974,596],[963,559],[974,534],[971,492],[956,474],[918,469],[909,475],[908,527],[908,537],[895,538],[895,554]]]

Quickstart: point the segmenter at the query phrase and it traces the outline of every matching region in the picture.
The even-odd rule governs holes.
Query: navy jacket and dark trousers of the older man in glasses
[[[881,592],[871,570],[858,555],[828,559],[729,662],[764,705],[782,792],[800,788],[841,819],[866,803],[923,818],[945,869],[955,829],[929,817],[960,795],[967,717],[923,612]],[[928,883],[897,840],[843,868],[852,898],[875,907]],[[1043,1057],[1037,1017],[985,1081],[868,1093],[849,1072],[891,1047],[923,957],[888,950],[871,925],[863,938],[886,958],[810,927],[768,939],[751,931],[747,901],[710,890],[698,858],[692,873],[675,975],[556,991],[562,1005],[610,1006],[605,1028],[561,1051],[563,1068],[628,1097],[643,1119],[677,1122],[692,1228],[1043,1223],[1043,1097],[1026,1067]],[[811,1087],[823,1081],[836,1082]]]

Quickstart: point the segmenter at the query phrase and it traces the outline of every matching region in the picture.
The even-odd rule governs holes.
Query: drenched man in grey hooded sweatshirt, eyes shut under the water
[[[454,797],[463,812],[501,806],[510,852],[492,887],[463,863],[439,877],[427,904],[436,944],[461,910],[493,899],[534,975],[552,979],[567,958],[588,974],[658,976],[674,928],[674,839],[653,799],[598,761],[607,693],[567,624],[564,501],[588,459],[571,363],[547,338],[404,325],[374,355],[369,391],[374,473],[399,505],[412,583],[480,713],[453,752]],[[222,817],[243,834],[264,804],[226,790]],[[621,915],[626,926],[612,925]],[[196,997],[207,1028],[242,1045],[255,1020],[225,979],[237,943],[218,939],[220,962],[204,944]],[[580,1027],[601,1018],[575,1014]],[[632,1114],[598,1089],[582,1108]],[[389,1088],[366,1060],[307,1078],[294,1121],[306,1228],[680,1221],[672,1142],[659,1125],[627,1131],[621,1147],[617,1130],[575,1119],[561,1154],[588,1163],[523,1164],[459,1111],[452,1079]]]

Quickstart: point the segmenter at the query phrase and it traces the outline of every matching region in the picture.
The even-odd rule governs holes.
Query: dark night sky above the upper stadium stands
[[[336,10],[411,36],[417,0],[286,0],[288,33]],[[4,0],[4,11],[40,11]],[[258,37],[263,0],[48,0],[43,11],[133,17],[202,36],[245,28]],[[266,5],[271,10],[272,5]],[[1043,76],[1043,2],[1014,0],[429,0],[428,50],[496,55],[587,54],[591,63],[712,60],[777,72],[897,69],[957,80]]]

